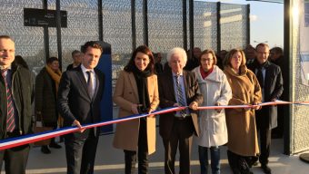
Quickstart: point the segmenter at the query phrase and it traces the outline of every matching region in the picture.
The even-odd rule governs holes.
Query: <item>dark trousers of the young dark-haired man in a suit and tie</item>
[[[92,174],[95,168],[95,153],[99,137],[90,130],[86,139],[75,139],[72,134],[65,136],[67,174]]]

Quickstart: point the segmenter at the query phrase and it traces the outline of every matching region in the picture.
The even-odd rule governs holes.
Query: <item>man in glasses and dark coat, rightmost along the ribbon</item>
[[[283,88],[283,78],[279,66],[268,61],[269,46],[266,43],[259,43],[255,48],[256,58],[254,63],[248,65],[260,83],[262,89],[262,101],[274,102],[279,99]],[[268,157],[270,153],[272,129],[277,126],[277,106],[263,106],[255,112],[256,130],[259,133],[261,154],[259,161],[264,173],[270,174]]]

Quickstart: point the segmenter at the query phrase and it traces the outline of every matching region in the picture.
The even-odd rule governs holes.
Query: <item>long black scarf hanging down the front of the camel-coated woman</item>
[[[140,71],[135,66],[133,68],[133,73],[135,75],[135,81],[137,85],[137,92],[138,92],[138,99],[139,104],[143,106],[139,107],[138,111],[140,113],[145,113],[149,110],[150,102],[149,102],[149,95],[148,95],[148,84],[147,84],[147,77],[149,77],[152,73],[150,70],[145,69],[145,71]]]

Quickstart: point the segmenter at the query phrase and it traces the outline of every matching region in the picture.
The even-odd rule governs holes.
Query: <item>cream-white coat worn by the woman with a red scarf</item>
[[[196,67],[193,72],[203,94],[203,106],[214,106],[216,102],[220,105],[228,105],[232,98],[232,90],[226,76],[219,67],[214,65],[213,72],[205,79],[201,75],[200,66]],[[201,110],[199,115],[200,136],[196,138],[196,143],[207,148],[224,145],[227,142],[224,110],[220,112]]]

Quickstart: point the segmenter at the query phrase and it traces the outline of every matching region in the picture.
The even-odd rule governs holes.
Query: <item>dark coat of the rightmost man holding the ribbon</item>
[[[257,69],[256,60],[254,60],[254,63],[249,64],[248,68],[255,73]],[[274,63],[267,61],[264,68],[264,102],[271,102],[273,99],[279,99],[284,92],[283,77],[280,67]],[[269,122],[267,127],[269,129],[277,127],[277,106],[263,106],[262,109],[267,110],[267,114],[264,115],[264,117],[268,117]]]

